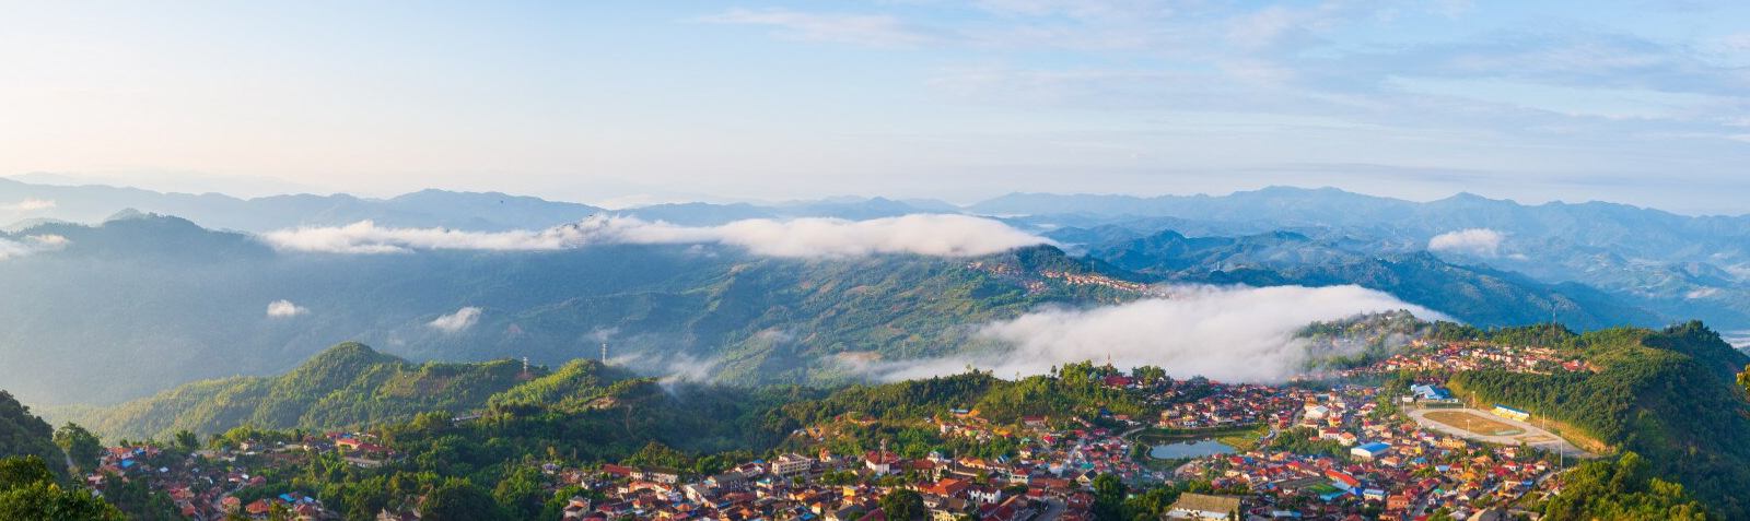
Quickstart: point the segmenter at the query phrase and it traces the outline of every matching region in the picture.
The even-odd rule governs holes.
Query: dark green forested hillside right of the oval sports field
[[[1484,402],[1526,407],[1645,456],[1729,519],[1750,516],[1750,399],[1736,385],[1750,357],[1699,322],[1662,330],[1447,329],[1452,337],[1503,337],[1580,353],[1598,372],[1460,372],[1452,388]]]

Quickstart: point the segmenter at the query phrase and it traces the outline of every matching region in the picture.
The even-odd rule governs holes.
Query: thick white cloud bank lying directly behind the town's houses
[[[959,372],[964,365],[1001,378],[1045,374],[1054,365],[1108,357],[1116,367],[1158,365],[1176,378],[1276,381],[1307,357],[1295,337],[1307,323],[1360,313],[1409,309],[1416,316],[1446,315],[1388,294],[1344,287],[1180,287],[1169,297],[1092,309],[1045,309],[989,323],[978,336],[1001,348],[934,360],[873,367],[882,378],[906,379]]]

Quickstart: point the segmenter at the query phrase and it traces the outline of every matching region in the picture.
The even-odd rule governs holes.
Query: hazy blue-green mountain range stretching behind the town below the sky
[[[649,374],[842,383],[868,378],[859,364],[870,360],[978,348],[970,329],[980,323],[1144,299],[1138,287],[1160,283],[1360,285],[1484,327],[1703,318],[1750,329],[1750,219],[1606,203],[1412,203],[1272,187],[1013,194],[964,208],[835,198],[609,212],[444,191],[238,199],[0,180],[9,201],[35,210],[0,234],[0,247],[28,250],[0,260],[0,292],[10,295],[0,299],[0,357],[18,362],[0,379],[35,404],[110,404],[192,379],[275,374],[340,341],[416,362],[537,364],[600,357],[606,343]],[[796,259],[634,243],[332,255],[278,250],[259,234],[359,220],[537,231],[604,212],[698,227],[985,213],[1050,245],[975,257]]]

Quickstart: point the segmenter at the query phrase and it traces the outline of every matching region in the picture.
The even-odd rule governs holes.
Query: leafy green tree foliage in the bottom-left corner
[[[0,519],[122,521],[121,511],[82,490],[63,490],[42,458],[0,460]]]

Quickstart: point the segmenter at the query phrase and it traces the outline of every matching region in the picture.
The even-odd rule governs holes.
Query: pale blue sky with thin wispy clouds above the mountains
[[[238,196],[1750,213],[1750,3],[5,2],[0,175]]]

